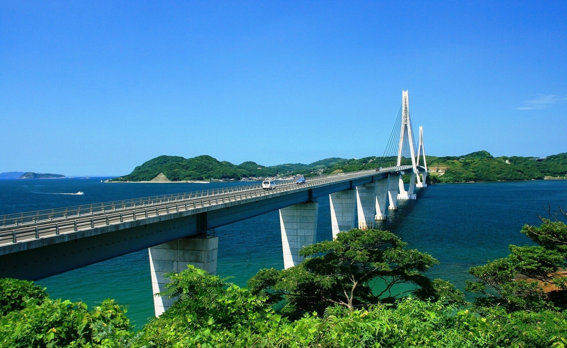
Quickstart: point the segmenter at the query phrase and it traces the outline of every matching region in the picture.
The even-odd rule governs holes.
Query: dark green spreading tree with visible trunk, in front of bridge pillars
[[[304,247],[299,255],[307,259],[295,267],[260,270],[248,286],[255,294],[266,294],[270,303],[285,299],[282,313],[294,317],[322,313],[333,304],[352,311],[380,301],[392,302],[403,293],[424,298],[437,297],[437,290],[445,293],[447,282],[431,282],[422,274],[438,261],[405,246],[389,231],[352,229],[339,233],[335,240]],[[377,292],[373,290],[376,280],[383,282]],[[410,290],[393,291],[401,284],[411,285]]]

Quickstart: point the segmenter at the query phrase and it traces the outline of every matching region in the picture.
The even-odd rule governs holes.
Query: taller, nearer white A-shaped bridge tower
[[[412,158],[412,174],[409,179],[408,191],[405,191],[404,181],[402,175],[399,178],[399,188],[400,193],[397,195],[397,199],[416,199],[416,194],[413,193],[416,186],[416,175],[417,163],[416,163],[416,153],[413,142],[413,130],[412,122],[409,118],[409,97],[408,91],[401,91],[401,128],[400,128],[400,142],[397,149],[397,166],[401,165],[401,159],[403,156],[404,144],[409,143],[409,152]]]

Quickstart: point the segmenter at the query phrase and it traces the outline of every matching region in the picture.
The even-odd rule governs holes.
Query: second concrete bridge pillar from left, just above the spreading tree
[[[298,252],[315,243],[319,203],[308,201],[280,209],[284,268],[294,267],[303,261]]]

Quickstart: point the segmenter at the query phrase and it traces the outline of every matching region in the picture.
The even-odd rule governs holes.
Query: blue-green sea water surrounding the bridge
[[[103,201],[204,190],[239,183],[100,183],[100,179],[0,181],[0,214]],[[84,192],[84,195],[61,195]],[[380,222],[440,264],[429,276],[463,289],[468,268],[508,254],[509,244],[528,244],[523,224],[538,224],[545,207],[567,207],[567,181],[437,184],[418,191],[418,199],[399,201],[400,210]],[[219,236],[217,273],[246,285],[261,268],[283,268],[278,212],[215,230]],[[318,240],[331,238],[328,198],[319,199]],[[88,304],[115,298],[141,326],[153,316],[150,265],[146,250],[116,257],[37,281],[54,298]]]

